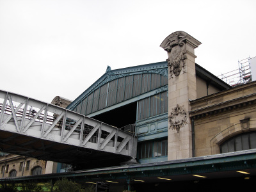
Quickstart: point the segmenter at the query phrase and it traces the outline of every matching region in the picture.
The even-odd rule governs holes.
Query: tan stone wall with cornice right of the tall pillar
[[[195,156],[220,154],[224,141],[256,130],[256,82],[190,102],[195,127]]]

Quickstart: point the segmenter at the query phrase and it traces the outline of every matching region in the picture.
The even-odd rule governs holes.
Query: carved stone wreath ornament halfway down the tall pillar
[[[179,133],[180,127],[183,127],[184,125],[188,124],[187,119],[188,112],[186,111],[186,109],[177,105],[176,108],[172,109],[172,112],[168,117],[168,120],[170,122],[169,129],[176,129],[176,131]]]

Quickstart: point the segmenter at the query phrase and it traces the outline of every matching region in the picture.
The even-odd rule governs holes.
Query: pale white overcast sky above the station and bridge
[[[256,56],[256,1],[0,0],[1,90],[70,100],[111,69],[165,61],[166,36],[199,40],[218,76]]]

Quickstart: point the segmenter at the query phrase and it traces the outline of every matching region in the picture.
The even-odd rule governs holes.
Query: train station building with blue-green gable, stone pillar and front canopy
[[[74,169],[65,173],[58,173],[60,165],[49,161],[47,167],[44,161],[42,167],[51,164],[56,171],[26,177],[13,177],[11,163],[10,172],[0,164],[4,178],[109,182],[109,191],[216,191],[241,185],[250,190],[256,175],[256,81],[253,73],[244,74],[243,82],[235,85],[214,76],[196,63],[200,44],[184,31],[174,32],[160,45],[166,61],[120,69],[108,66],[74,101],[52,101],[60,105],[62,99],[66,109],[131,134],[136,145],[124,146],[136,156],[122,162],[110,162],[108,156],[99,156],[99,161],[88,157],[83,164],[67,162]],[[256,65],[255,58],[249,65]],[[100,142],[97,134],[104,132],[92,134],[92,143]],[[115,132],[105,138],[115,147]]]

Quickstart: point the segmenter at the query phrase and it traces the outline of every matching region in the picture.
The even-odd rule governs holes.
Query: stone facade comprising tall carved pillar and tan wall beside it
[[[160,45],[169,67],[168,160],[220,154],[223,142],[256,129],[256,83],[223,90],[212,83],[211,73],[198,76],[198,45],[183,31],[172,33]]]

